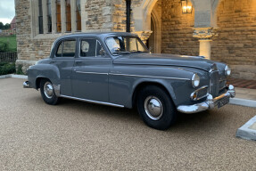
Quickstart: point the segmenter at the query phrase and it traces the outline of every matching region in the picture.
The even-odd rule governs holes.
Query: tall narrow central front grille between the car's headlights
[[[217,97],[219,95],[219,71],[214,70],[210,73],[210,94],[213,97]]]

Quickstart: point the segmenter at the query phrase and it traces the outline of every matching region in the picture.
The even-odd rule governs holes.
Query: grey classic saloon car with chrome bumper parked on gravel
[[[130,33],[81,33],[56,39],[49,58],[28,69],[24,87],[60,98],[136,107],[145,124],[167,129],[179,112],[222,107],[235,97],[227,64],[203,57],[153,54]]]

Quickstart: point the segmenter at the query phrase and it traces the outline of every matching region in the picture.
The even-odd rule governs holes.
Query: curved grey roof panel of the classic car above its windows
[[[70,37],[137,37],[136,34],[128,33],[128,32],[81,32],[81,33],[75,33],[70,35],[65,35],[62,37],[58,37],[58,39],[62,38],[70,38]]]

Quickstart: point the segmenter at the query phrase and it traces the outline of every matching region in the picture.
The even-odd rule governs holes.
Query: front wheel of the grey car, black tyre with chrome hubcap
[[[169,94],[156,85],[148,85],[141,90],[137,98],[137,110],[145,124],[155,129],[168,129],[177,118]]]

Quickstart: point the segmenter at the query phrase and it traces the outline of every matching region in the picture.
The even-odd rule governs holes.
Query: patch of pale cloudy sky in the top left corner
[[[0,0],[0,22],[10,23],[15,16],[14,0]]]

